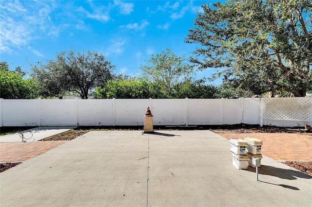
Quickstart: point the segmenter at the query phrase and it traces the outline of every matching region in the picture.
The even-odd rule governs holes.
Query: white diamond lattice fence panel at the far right
[[[312,121],[312,98],[261,98],[261,119]]]

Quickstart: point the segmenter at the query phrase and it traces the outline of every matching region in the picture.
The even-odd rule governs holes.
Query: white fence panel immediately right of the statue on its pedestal
[[[185,125],[185,99],[153,99],[154,125]]]

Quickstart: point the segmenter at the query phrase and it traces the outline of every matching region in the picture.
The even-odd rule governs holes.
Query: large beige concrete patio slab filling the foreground
[[[0,206],[312,206],[312,176],[267,156],[232,165],[210,131],[94,131],[0,175]]]

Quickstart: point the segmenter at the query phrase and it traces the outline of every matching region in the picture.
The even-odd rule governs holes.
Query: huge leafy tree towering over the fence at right
[[[312,88],[312,1],[227,0],[203,5],[185,42],[199,43],[190,61],[256,94]]]

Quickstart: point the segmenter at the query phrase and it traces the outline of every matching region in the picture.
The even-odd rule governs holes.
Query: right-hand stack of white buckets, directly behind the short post
[[[263,145],[262,140],[256,138],[244,138],[244,140],[247,141],[248,143],[247,146],[247,155],[249,157],[248,165],[250,167],[255,168],[255,165],[253,164],[253,157],[259,158],[261,163],[262,159],[261,146]]]

